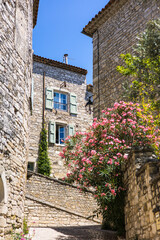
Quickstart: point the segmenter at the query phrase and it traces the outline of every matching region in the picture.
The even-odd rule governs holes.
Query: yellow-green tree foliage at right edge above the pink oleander
[[[160,20],[150,21],[137,38],[133,54],[122,54],[124,66],[117,70],[132,77],[123,84],[125,100],[149,102],[160,110]]]

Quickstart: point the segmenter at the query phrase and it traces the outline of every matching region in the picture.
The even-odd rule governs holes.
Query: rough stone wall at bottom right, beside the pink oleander
[[[160,239],[160,164],[153,157],[134,152],[126,166],[126,240]]]

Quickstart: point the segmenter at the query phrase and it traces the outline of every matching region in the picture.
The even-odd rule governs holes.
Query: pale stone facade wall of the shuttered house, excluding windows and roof
[[[62,64],[62,63],[61,63]],[[65,65],[65,64],[64,64]],[[62,68],[49,66],[40,62],[33,64],[34,79],[34,97],[33,110],[30,117],[30,136],[29,136],[29,162],[36,163],[38,159],[38,144],[40,132],[42,129],[42,112],[43,112],[43,74],[45,72],[45,88],[52,88],[64,94],[74,93],[77,96],[77,115],[70,114],[69,111],[48,110],[45,109],[45,126],[49,130],[49,122],[53,121],[58,124],[74,126],[74,131],[85,131],[92,123],[92,114],[86,109],[86,76]],[[66,87],[61,87],[63,82]],[[69,108],[69,105],[68,105]],[[48,153],[51,161],[52,176],[62,178],[65,176],[66,169],[63,160],[59,156],[62,151],[62,145],[49,144]],[[36,168],[36,167],[35,167]]]

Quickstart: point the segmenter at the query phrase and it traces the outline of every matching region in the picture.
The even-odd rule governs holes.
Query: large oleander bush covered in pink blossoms
[[[115,103],[94,119],[88,132],[68,137],[60,153],[68,166],[67,181],[77,183],[80,190],[92,189],[103,217],[112,214],[110,206],[116,199],[121,201],[125,190],[121,164],[130,150],[152,148],[159,155],[160,132],[146,112],[139,104]]]

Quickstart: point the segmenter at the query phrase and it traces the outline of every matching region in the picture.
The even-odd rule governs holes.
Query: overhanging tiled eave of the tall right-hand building
[[[92,37],[97,28],[108,19],[111,8],[115,2],[121,2],[121,0],[110,0],[107,5],[102,8],[102,10],[99,11],[98,14],[96,14],[95,17],[92,18],[92,20],[83,28],[82,33]]]

